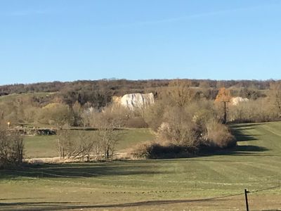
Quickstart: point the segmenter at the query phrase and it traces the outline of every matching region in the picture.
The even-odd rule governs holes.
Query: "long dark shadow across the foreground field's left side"
[[[117,165],[112,163],[67,163],[67,164],[26,164],[8,170],[0,170],[1,179],[13,179],[17,177],[28,178],[64,178],[64,179],[86,179],[97,177],[110,177],[119,175],[141,175],[141,174],[165,174],[168,172],[159,171],[153,165],[143,166]]]

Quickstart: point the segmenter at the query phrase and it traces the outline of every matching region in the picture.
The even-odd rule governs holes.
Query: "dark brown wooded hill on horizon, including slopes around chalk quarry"
[[[233,96],[244,98],[259,98],[266,96],[265,90],[269,89],[273,80],[210,80],[210,79],[181,79],[198,89],[198,94],[207,99],[216,98],[218,89],[226,87],[231,89]],[[96,108],[107,105],[112,96],[122,96],[128,93],[152,92],[157,96],[163,87],[168,87],[171,79],[100,79],[79,80],[74,82],[40,82],[35,84],[9,84],[0,86],[0,96],[9,94],[31,94],[39,92],[55,93],[52,97],[61,98],[67,105],[78,101],[82,106],[91,103]],[[50,98],[50,97],[49,97]],[[35,101],[44,103],[48,99],[37,98]]]

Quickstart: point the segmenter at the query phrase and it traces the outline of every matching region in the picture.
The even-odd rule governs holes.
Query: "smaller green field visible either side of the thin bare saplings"
[[[96,131],[89,132],[96,133]],[[116,150],[124,151],[137,143],[143,141],[152,141],[155,135],[150,129],[124,129],[119,141],[117,141]],[[25,136],[25,158],[47,158],[57,157],[58,136]]]

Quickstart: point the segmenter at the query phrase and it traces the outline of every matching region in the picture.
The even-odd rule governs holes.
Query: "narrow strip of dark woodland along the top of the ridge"
[[[106,89],[107,91],[116,91],[115,94],[125,94],[128,91],[143,91],[145,89],[153,89],[155,87],[167,87],[170,79],[150,79],[150,80],[126,80],[126,79],[101,79],[94,81],[75,81],[75,82],[41,82],[36,84],[11,84],[0,86],[0,96],[6,94],[24,94],[34,92],[55,92],[81,89],[88,89],[91,91],[99,91],[99,89]],[[273,80],[210,80],[210,79],[184,79],[189,82],[192,87],[236,87],[248,89],[268,89],[270,82]]]

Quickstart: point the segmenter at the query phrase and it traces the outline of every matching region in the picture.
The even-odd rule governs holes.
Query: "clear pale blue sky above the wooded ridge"
[[[0,84],[281,79],[281,0],[1,0]]]

